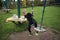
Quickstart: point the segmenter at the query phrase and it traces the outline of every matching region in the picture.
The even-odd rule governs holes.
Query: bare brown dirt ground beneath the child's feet
[[[33,27],[32,27],[33,30]],[[46,28],[46,32],[40,32],[39,36],[36,36],[35,30],[32,31],[32,36],[28,36],[28,31],[12,33],[9,36],[9,40],[60,40],[60,33],[53,32],[51,29]]]

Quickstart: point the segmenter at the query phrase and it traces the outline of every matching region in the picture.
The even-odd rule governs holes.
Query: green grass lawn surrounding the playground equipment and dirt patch
[[[21,15],[23,9],[21,8]],[[31,8],[26,9],[28,12],[32,11]],[[42,7],[34,7],[34,18],[38,24],[41,22],[42,9]],[[13,14],[17,14],[17,9],[12,9],[10,13],[0,12],[0,40],[6,40],[10,33],[27,30],[27,22],[23,24],[6,22],[6,19]],[[46,7],[43,25],[60,31],[60,7]]]

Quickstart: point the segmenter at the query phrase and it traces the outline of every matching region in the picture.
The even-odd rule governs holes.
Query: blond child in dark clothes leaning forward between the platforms
[[[27,13],[26,10],[23,11],[23,14],[24,14],[25,18],[27,18],[27,20],[28,20],[28,23],[29,23],[28,24],[28,31],[30,33],[29,36],[31,36],[32,35],[32,33],[31,33],[31,25],[33,24],[35,26],[35,28],[37,28],[37,22],[33,18],[33,14]],[[36,31],[36,35],[38,35],[38,31]]]

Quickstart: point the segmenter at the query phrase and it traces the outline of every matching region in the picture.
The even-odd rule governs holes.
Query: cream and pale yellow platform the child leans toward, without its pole
[[[7,18],[6,22],[16,22],[19,21],[20,23],[24,23],[27,21],[27,19],[24,16],[21,16],[20,18],[18,18],[18,16],[16,14],[13,14],[12,17]]]

